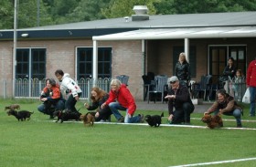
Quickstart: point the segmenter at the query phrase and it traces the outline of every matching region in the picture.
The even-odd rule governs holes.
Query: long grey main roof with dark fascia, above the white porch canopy
[[[180,29],[179,31],[182,32],[181,29],[184,28],[187,28],[187,32],[207,30],[199,29],[199,27],[248,26],[247,28],[250,28],[256,26],[255,18],[256,12],[158,15],[149,16],[149,20],[144,21],[132,21],[132,18],[130,16],[128,22],[126,22],[126,20],[121,17],[54,26],[38,26],[18,29],[17,37],[22,38],[21,34],[27,33],[29,34],[29,38],[27,39],[91,38],[96,36],[100,37],[104,35],[123,33],[133,30],[138,30],[134,31],[133,33],[139,32],[139,34],[142,35],[142,33],[144,32],[144,30],[142,29],[156,28],[162,28],[162,33],[164,31],[175,32],[178,29]],[[230,32],[232,31],[234,31],[234,29],[230,29]],[[157,33],[155,33],[155,35],[156,34]],[[131,34],[128,33],[127,35]],[[13,29],[0,30],[0,40],[10,40],[12,38]]]

